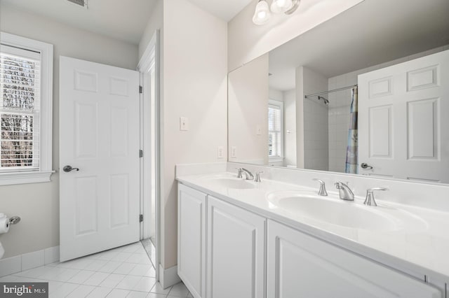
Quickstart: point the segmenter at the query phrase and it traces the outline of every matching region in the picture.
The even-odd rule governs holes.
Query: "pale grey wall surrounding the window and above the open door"
[[[59,168],[59,56],[135,69],[138,47],[112,38],[74,29],[39,15],[1,3],[0,29],[54,45],[53,62],[53,169]],[[0,212],[22,221],[1,234],[4,257],[59,245],[59,173],[50,183],[0,186]]]

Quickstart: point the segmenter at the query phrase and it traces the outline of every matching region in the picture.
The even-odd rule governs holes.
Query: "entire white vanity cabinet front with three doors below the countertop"
[[[442,298],[445,289],[182,184],[177,257],[195,298]]]

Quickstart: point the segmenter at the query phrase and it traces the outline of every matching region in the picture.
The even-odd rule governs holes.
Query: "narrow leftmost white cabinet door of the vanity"
[[[205,297],[206,194],[177,187],[177,274],[195,298]]]

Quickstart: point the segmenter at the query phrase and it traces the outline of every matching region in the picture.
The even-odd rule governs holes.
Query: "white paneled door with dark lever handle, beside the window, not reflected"
[[[138,86],[137,71],[60,57],[61,261],[139,241]]]

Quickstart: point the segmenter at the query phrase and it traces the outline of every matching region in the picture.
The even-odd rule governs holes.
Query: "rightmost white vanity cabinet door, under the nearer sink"
[[[267,297],[441,298],[436,288],[268,221]]]

